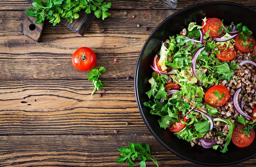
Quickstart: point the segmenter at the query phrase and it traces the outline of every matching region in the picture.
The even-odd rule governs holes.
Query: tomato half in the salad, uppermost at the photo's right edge
[[[243,46],[243,43],[244,41],[239,38],[239,35],[240,35],[241,32],[238,33],[238,35],[234,38],[235,40],[235,48],[236,50],[240,51],[240,52],[243,52],[243,53],[250,53],[254,50],[254,47],[256,46],[256,40],[255,38],[252,36],[252,35],[246,35],[247,36],[247,41],[245,41],[246,43],[248,43],[248,39],[251,40],[252,42],[252,48],[247,48],[245,46]]]

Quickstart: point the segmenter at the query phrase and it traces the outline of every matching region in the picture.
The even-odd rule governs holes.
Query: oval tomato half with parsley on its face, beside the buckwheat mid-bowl
[[[227,87],[216,85],[205,92],[204,101],[212,107],[220,107],[229,100],[229,91]]]

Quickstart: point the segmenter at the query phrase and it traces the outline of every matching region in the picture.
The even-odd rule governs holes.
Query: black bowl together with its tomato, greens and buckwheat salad
[[[169,16],[144,44],[135,73],[139,111],[177,156],[231,165],[256,155],[255,15],[229,2],[197,4]]]

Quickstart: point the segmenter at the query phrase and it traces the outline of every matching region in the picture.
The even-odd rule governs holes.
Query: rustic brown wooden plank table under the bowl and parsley
[[[1,0],[0,165],[128,166],[115,163],[117,148],[133,142],[148,143],[160,167],[200,166],[175,156],[150,134],[137,108],[134,73],[145,40],[160,22],[208,1],[178,0],[171,9],[155,0],[109,0],[111,16],[94,19],[84,36],[46,22],[38,43],[16,31],[31,5]],[[228,1],[256,9],[256,0]],[[71,56],[81,46],[95,51],[97,68],[106,68],[100,77],[106,92],[91,96],[89,72],[72,66]],[[234,166],[255,165],[256,157]]]

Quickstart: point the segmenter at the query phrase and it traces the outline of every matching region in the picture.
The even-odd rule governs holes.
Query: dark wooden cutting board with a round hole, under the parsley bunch
[[[33,0],[25,0],[26,2],[32,4]],[[61,23],[67,26],[68,28],[72,29],[76,33],[80,35],[84,35],[87,29],[89,28],[92,20],[95,18],[94,13],[87,14],[85,10],[80,11],[79,18],[73,20],[72,23],[68,22],[67,19],[61,18]],[[26,35],[27,37],[31,38],[36,42],[41,42],[42,34],[43,34],[43,27],[44,22],[41,24],[34,24],[36,18],[32,18],[27,16],[25,20],[16,28],[17,31]]]

